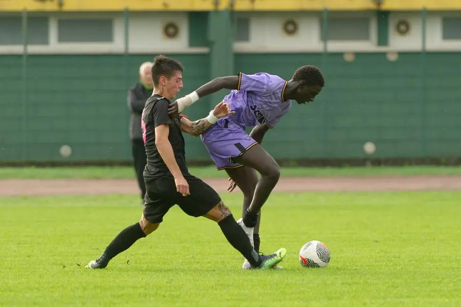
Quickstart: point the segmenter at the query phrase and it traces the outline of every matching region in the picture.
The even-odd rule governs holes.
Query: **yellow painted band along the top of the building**
[[[1,0],[0,11],[209,11],[234,9],[236,11],[320,11],[323,8],[341,11],[461,10],[460,0],[383,0],[378,7],[374,0]]]

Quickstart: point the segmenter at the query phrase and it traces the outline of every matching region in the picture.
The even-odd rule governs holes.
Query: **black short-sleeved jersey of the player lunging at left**
[[[144,179],[155,179],[160,176],[172,176],[170,170],[160,156],[155,145],[155,127],[160,125],[170,126],[170,140],[173,152],[181,173],[187,173],[185,165],[184,137],[179,127],[179,117],[171,119],[168,115],[170,101],[160,95],[149,97],[142,111],[142,139],[144,140],[147,165],[144,169]]]

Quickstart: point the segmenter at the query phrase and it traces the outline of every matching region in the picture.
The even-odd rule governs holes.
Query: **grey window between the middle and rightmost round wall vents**
[[[324,40],[323,24],[320,37]],[[327,40],[370,40],[370,18],[328,18]]]

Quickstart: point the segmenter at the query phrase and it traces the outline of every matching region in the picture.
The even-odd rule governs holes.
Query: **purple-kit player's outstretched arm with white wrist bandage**
[[[178,113],[181,113],[186,107],[191,106],[200,98],[216,93],[222,89],[236,90],[239,87],[239,76],[226,76],[215,78],[208,83],[199,87],[196,91],[185,95],[177,99],[174,103],[170,104],[168,108],[168,114],[171,117],[176,117]]]

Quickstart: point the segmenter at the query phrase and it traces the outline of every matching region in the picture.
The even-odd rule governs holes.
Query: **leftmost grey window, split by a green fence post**
[[[27,18],[28,45],[48,45],[48,17]],[[0,45],[23,45],[22,17],[0,17]]]

